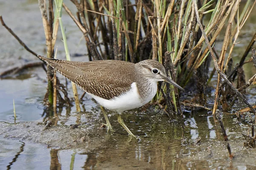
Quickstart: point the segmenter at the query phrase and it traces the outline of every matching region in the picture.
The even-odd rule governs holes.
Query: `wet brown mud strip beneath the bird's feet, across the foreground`
[[[118,122],[114,120],[111,120],[111,123],[116,132],[106,133],[106,130],[99,129],[101,119],[96,120],[94,116],[90,116],[88,122],[79,125],[77,128],[59,124],[44,129],[45,125],[41,122],[19,122],[16,125],[0,122],[0,129],[2,130],[0,136],[8,140],[36,143],[48,148],[48,150],[54,149],[58,152],[61,152],[61,150],[76,150],[80,155],[97,155],[96,160],[93,159],[95,169],[115,169],[119,164],[122,164],[121,167],[125,167],[131,165],[131,162],[133,162],[133,166],[129,166],[130,169],[140,169],[143,166],[148,169],[158,167],[167,169],[170,167],[183,167],[185,169],[256,168],[255,150],[243,147],[245,140],[241,133],[246,134],[248,127],[230,121],[230,116],[224,116],[223,119],[226,127],[230,125],[233,127],[227,128],[230,147],[234,155],[233,159],[229,158],[227,143],[224,142],[220,128],[214,125],[210,115],[196,116],[195,119],[201,121],[202,124],[208,119],[213,123],[212,129],[206,129],[203,125],[196,125],[195,128],[195,125],[193,125],[195,119],[186,119],[185,124],[189,123],[190,125],[185,127],[183,138],[181,138],[180,125],[166,121],[166,115],[160,113],[151,115],[150,113],[148,115],[146,113],[134,114],[131,112],[125,113],[124,117],[128,118],[128,120],[126,119],[127,125],[132,130],[136,130],[134,133],[140,135],[140,141],[136,139],[130,141],[122,127],[118,126]],[[141,119],[137,119],[138,117]],[[205,119],[206,117],[208,118]],[[151,122],[151,125],[147,125],[146,122],[148,121]],[[140,128],[140,125],[146,126]],[[192,134],[193,129],[198,131]],[[212,132],[215,135],[212,135]],[[201,138],[200,142],[198,142],[199,137]],[[138,148],[141,148],[141,150],[138,150]],[[138,156],[136,156],[136,153]],[[148,158],[150,158],[150,161],[148,161]],[[158,162],[160,159],[163,160],[161,164]],[[114,161],[113,164],[113,160],[119,161]],[[141,161],[147,163],[141,164]]]

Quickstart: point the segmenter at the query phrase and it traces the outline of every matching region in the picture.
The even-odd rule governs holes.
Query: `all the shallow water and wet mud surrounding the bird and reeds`
[[[0,11],[6,24],[38,54],[45,54],[45,37],[37,0],[0,1]],[[72,4],[67,3],[68,6]],[[74,10],[71,8],[71,10]],[[12,11],[10,13],[9,11]],[[252,15],[253,16],[253,15]],[[86,54],[81,32],[63,14],[70,54]],[[255,17],[243,30],[234,57],[240,57],[244,45],[255,30]],[[28,31],[29,30],[29,31]],[[0,72],[27,62],[39,61],[0,27]],[[64,47],[58,36],[58,58],[64,59]],[[221,43],[215,46],[221,49]],[[234,58],[233,57],[233,58]],[[86,57],[73,57],[86,61]],[[249,57],[247,57],[249,59]],[[234,58],[235,62],[236,60]],[[234,62],[234,63],[235,63]],[[256,73],[252,63],[244,66],[246,80]],[[228,157],[226,143],[215,118],[207,111],[184,114],[185,130],[178,123],[169,122],[168,116],[149,107],[126,111],[122,114],[125,124],[141,140],[130,139],[119,125],[115,114],[108,112],[114,133],[99,129],[104,117],[90,96],[84,97],[83,112],[75,107],[63,108],[58,113],[55,126],[44,130],[43,98],[46,92],[46,74],[42,68],[29,69],[20,76],[0,79],[0,169],[256,169],[256,152],[243,147],[242,133],[247,134],[250,125],[236,123],[236,116],[223,114],[222,119],[234,158]],[[64,82],[64,78],[60,77]],[[214,84],[213,84],[214,86]],[[70,84],[69,84],[70,87]],[[79,94],[83,92],[79,89]],[[251,104],[256,102],[256,90],[247,90]],[[69,95],[72,91],[69,90]],[[208,94],[214,97],[214,91]],[[13,99],[17,120],[14,125]],[[239,101],[233,110],[244,108]],[[55,122],[54,122],[55,121]],[[77,128],[70,125],[78,124]],[[183,136],[183,137],[182,137]],[[198,138],[201,141],[198,142]]]

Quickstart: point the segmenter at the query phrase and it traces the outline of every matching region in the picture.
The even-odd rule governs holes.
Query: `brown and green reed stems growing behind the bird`
[[[240,11],[241,0],[71,1],[76,6],[75,12],[70,11],[70,7],[62,0],[38,0],[46,35],[47,57],[54,56],[60,25],[66,56],[69,59],[61,21],[61,14],[65,10],[81,31],[90,60],[119,59],[135,63],[144,59],[155,59],[165,65],[168,74],[178,84],[187,91],[193,89],[194,97],[188,101],[184,99],[186,93],[179,94],[176,88],[165,83],[159,85],[159,92],[152,103],[164,108],[172,119],[182,115],[182,105],[212,110],[213,114],[221,105],[223,111],[229,112],[238,98],[247,105],[247,110],[255,113],[255,106],[251,106],[243,96],[244,90],[255,84],[255,76],[246,83],[242,66],[247,62],[251,62],[252,66],[253,63],[256,64],[256,59],[245,61],[256,41],[256,34],[240,62],[235,65],[232,59],[233,49],[239,43],[239,33],[246,24],[255,1],[247,0]],[[2,17],[0,19],[2,25],[8,29]],[[225,32],[224,36],[221,31]],[[215,49],[217,40],[223,44],[220,53]],[[212,62],[214,69],[209,73]],[[52,68],[47,66],[47,70],[48,93],[45,101],[49,105],[54,104],[56,108],[57,103],[64,102],[59,92],[62,91],[67,104],[71,105],[64,85],[58,79],[54,80]],[[214,75],[218,78],[212,106],[209,105],[206,91]],[[237,86],[234,87],[233,84]],[[53,90],[54,87],[58,90]],[[73,91],[77,111],[80,111],[76,89]],[[182,102],[179,96],[185,96]]]

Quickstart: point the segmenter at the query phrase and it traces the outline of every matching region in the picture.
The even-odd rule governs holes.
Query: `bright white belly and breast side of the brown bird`
[[[117,111],[119,113],[122,113],[123,111],[139,108],[145,105],[146,103],[150,102],[151,99],[153,99],[153,97],[157,93],[157,82],[153,82],[153,85],[151,85],[151,87],[148,90],[150,91],[149,95],[146,99],[143,99],[143,101],[140,99],[136,82],[133,82],[131,84],[130,91],[110,100],[103,99],[88,92],[87,94],[92,96],[104,108],[107,108],[111,111]]]

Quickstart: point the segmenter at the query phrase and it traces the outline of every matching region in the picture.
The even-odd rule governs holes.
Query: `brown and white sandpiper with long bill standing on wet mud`
[[[137,138],[125,125],[121,113],[140,108],[150,102],[157,93],[157,82],[167,82],[182,91],[180,85],[166,75],[163,65],[153,59],[136,64],[121,60],[96,60],[75,62],[46,58],[38,55],[67,79],[90,95],[101,105],[106,127],[113,131],[105,109],[116,111],[120,125]]]

